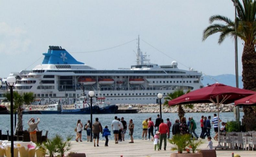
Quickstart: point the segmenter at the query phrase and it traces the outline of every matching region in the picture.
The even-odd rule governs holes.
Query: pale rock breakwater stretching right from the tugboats
[[[139,109],[138,113],[159,113],[160,108],[159,104],[117,104],[118,109]],[[219,107],[220,112],[233,112],[234,105],[232,104],[221,104]],[[194,104],[193,108],[185,108],[183,106],[183,109],[186,113],[190,112],[217,112],[217,107],[215,104]],[[240,111],[242,111],[242,108],[240,108]],[[166,107],[162,105],[162,112],[163,113],[177,113],[178,112],[178,106],[173,107]]]

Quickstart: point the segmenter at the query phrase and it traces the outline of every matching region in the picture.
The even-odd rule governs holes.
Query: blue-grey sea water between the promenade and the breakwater
[[[208,116],[211,116],[213,118],[214,113],[186,113],[185,117],[188,119],[188,117],[193,117],[193,119],[196,122],[197,129],[195,132],[198,136],[201,134],[201,127],[200,127],[200,119],[201,116],[204,115],[208,118]],[[240,112],[240,119],[244,115],[243,112]],[[129,120],[133,119],[134,123],[134,139],[142,139],[142,121],[146,118],[152,117],[152,120],[155,123],[155,119],[157,118],[157,113],[138,113],[138,114],[95,114],[93,115],[93,122],[95,122],[95,118],[99,118],[99,122],[101,123],[102,127],[108,126],[110,130],[111,128],[111,122],[114,120],[114,117],[117,116],[118,118],[124,117],[124,120],[127,122],[127,126],[129,125]],[[78,119],[81,119],[82,124],[86,124],[87,120],[90,119],[90,115],[23,115],[23,130],[28,129],[28,120],[30,118],[40,118],[40,123],[38,124],[39,130],[43,130],[42,134],[45,134],[46,130],[49,130],[48,138],[53,137],[54,135],[58,134],[63,136],[64,138],[68,135],[74,135],[73,139],[75,139],[76,132],[74,129],[76,128],[76,123]],[[178,119],[177,113],[162,113],[162,118],[164,119],[164,122],[166,122],[166,119],[169,118],[172,125],[175,123],[175,119]],[[234,117],[234,114],[232,112],[227,113],[220,113],[220,119],[223,122],[227,121],[234,121],[236,120]],[[220,124],[221,126],[221,124]],[[171,127],[172,128],[172,127]],[[2,130],[2,134],[7,134],[6,130],[10,130],[10,115],[0,115],[0,130]],[[9,131],[10,135],[10,131]],[[170,131],[170,135],[171,131]],[[215,135],[213,124],[211,129],[211,136],[213,137]],[[102,137],[102,134],[100,134],[100,137]],[[82,140],[86,140],[86,131],[82,131]],[[105,139],[105,138],[100,138]],[[113,133],[111,132],[111,136],[109,136],[110,140],[113,140]],[[129,137],[129,130],[126,131],[125,139],[130,139]]]

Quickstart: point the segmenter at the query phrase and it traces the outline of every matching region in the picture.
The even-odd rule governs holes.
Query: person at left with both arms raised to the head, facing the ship
[[[39,131],[38,129],[38,124],[40,122],[40,119],[37,118],[37,122],[35,122],[35,119],[34,118],[30,118],[29,121],[28,121],[28,125],[29,125],[29,129],[28,129],[28,132],[29,132],[29,137],[30,137],[30,140],[34,143],[37,142],[37,137],[36,137],[36,131]]]

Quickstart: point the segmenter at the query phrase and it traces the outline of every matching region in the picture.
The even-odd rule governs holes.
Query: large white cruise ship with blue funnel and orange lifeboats
[[[203,87],[202,73],[178,68],[178,62],[171,65],[150,63],[147,55],[140,50],[138,38],[136,65],[117,70],[97,70],[77,61],[65,49],[49,46],[43,53],[44,59],[32,70],[10,73],[17,79],[15,90],[33,92],[35,104],[74,104],[76,97],[105,97],[111,104],[151,104],[158,103],[157,94],[163,97],[177,89],[196,90]],[[0,99],[7,92],[6,79],[2,79]],[[96,99],[94,98],[94,101]]]

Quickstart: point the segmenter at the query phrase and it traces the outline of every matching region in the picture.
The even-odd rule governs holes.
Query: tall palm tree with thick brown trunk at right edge
[[[244,89],[256,91],[256,1],[242,0],[243,4],[238,0],[237,2],[237,36],[243,41],[244,45],[242,53],[242,81]],[[203,41],[218,32],[220,32],[219,44],[221,44],[226,37],[235,36],[235,22],[228,17],[214,15],[211,16],[209,20],[211,25],[204,29]],[[221,21],[223,23],[213,24],[214,21]],[[243,112],[246,129],[248,131],[253,130],[256,127],[256,108],[243,107]]]

